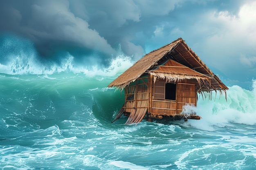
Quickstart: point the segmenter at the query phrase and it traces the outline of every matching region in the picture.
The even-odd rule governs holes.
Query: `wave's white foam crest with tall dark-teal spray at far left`
[[[124,55],[121,50],[117,56],[104,59],[98,56],[98,53],[83,55],[77,59],[77,56],[67,51],[56,53],[50,58],[40,57],[32,42],[15,36],[0,37],[0,51],[0,73],[8,75],[52,75],[71,72],[84,73],[90,77],[115,76],[133,64],[132,56]],[[105,64],[101,64],[101,60],[105,60]]]

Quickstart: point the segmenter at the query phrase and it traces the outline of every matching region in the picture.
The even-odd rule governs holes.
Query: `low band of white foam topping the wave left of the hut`
[[[34,56],[27,57],[26,55],[18,55],[17,57],[10,57],[7,64],[0,63],[0,73],[9,75],[52,75],[54,73],[72,72],[84,73],[88,77],[116,77],[126,71],[133,62],[131,57],[120,54],[110,61],[107,68],[101,66],[79,66],[74,62],[72,55],[64,57],[60,64],[57,63],[41,63]]]

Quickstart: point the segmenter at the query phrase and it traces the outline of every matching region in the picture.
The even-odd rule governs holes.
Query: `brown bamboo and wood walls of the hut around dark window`
[[[197,94],[195,91],[196,80],[180,80],[176,83],[175,100],[165,99],[165,80],[157,80],[150,83],[148,77],[142,77],[125,88],[125,112],[130,113],[135,108],[148,107],[149,113],[157,115],[175,115],[182,112],[182,106],[193,104],[196,106]],[[149,87],[151,84],[151,87]],[[143,87],[143,92],[138,91]],[[149,91],[151,89],[151,91]],[[148,99],[138,99],[138,96],[148,94]],[[146,101],[148,100],[148,102]],[[144,102],[144,104],[142,104]],[[151,102],[151,103],[150,103]],[[148,104],[149,103],[149,104]]]

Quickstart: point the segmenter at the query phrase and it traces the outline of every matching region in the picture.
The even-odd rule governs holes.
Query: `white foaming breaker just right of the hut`
[[[196,113],[202,117],[200,123],[198,120],[189,120],[186,124],[209,131],[214,130],[213,125],[224,127],[229,125],[229,122],[255,125],[256,80],[253,80],[253,87],[252,91],[240,86],[229,87],[227,101],[225,96],[217,96],[215,101],[199,99]]]

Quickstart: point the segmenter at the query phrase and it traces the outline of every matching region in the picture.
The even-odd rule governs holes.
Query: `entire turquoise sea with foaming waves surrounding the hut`
[[[82,67],[25,50],[0,63],[0,169],[256,169],[256,80],[251,90],[229,87],[227,101],[199,98],[201,120],[125,125],[125,116],[111,123],[124,94],[107,86],[129,57]]]

